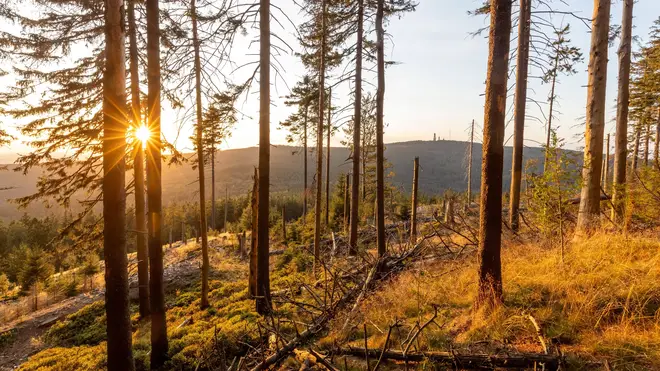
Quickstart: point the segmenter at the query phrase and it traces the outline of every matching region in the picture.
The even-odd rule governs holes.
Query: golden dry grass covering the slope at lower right
[[[569,246],[562,263],[558,248],[504,246],[505,304],[489,314],[472,313],[476,259],[416,265],[362,304],[360,326],[348,338],[362,347],[361,323],[366,322],[369,346],[381,347],[388,326],[403,319],[405,325],[393,333],[397,347],[437,305],[437,325],[424,330],[413,348],[488,344],[541,352],[526,316],[531,314],[544,336],[559,342],[574,362],[607,359],[620,369],[658,369],[659,248],[651,238],[602,234]],[[338,337],[342,324],[333,325],[324,343]]]

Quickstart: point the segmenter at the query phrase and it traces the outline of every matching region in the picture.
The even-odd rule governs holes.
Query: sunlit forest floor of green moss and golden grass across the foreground
[[[427,226],[425,232],[429,230]],[[509,236],[502,252],[504,303],[491,312],[472,309],[477,288],[474,246],[462,238],[453,243],[448,239],[445,235],[426,241],[428,248],[419,258],[379,279],[357,300],[355,310],[353,304],[337,308],[325,329],[300,343],[279,369],[323,369],[308,352],[313,348],[328,354],[326,360],[336,369],[364,370],[363,356],[342,356],[338,349],[379,350],[386,342],[392,352],[409,348],[415,354],[504,357],[547,352],[564,359],[565,369],[660,369],[657,236],[596,235],[572,241],[563,258],[556,244]],[[286,294],[274,296],[274,316],[262,318],[247,294],[247,262],[231,246],[222,241],[212,244],[211,307],[205,310],[199,309],[198,246],[168,249],[168,370],[228,369],[241,357],[253,357],[251,362],[265,359],[281,349],[282,342],[296,338],[299,328],[319,318],[313,313],[327,298],[318,288],[323,280],[311,273],[308,251],[291,247],[271,257],[273,292]],[[369,260],[374,254],[368,250],[362,258]],[[338,256],[335,261],[340,271],[351,259]],[[296,293],[300,283],[307,287]],[[349,284],[344,290],[351,287],[360,286]],[[21,370],[103,369],[105,316],[100,303],[84,307],[31,340],[48,349],[31,356]],[[137,315],[132,321],[136,368],[147,370],[150,324]],[[273,328],[276,335],[266,336]],[[368,362],[373,368],[377,360]],[[380,367],[393,370],[404,365],[389,361]]]

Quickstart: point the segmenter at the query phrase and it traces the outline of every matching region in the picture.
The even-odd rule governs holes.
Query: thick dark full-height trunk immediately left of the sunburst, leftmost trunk
[[[123,1],[105,2],[103,74],[103,254],[109,371],[132,371],[126,256],[126,71]],[[36,284],[35,284],[36,286]],[[35,299],[36,300],[36,299]],[[36,304],[36,301],[35,301]]]

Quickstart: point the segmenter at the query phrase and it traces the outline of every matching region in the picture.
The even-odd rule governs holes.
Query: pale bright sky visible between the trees
[[[593,1],[566,0],[568,8],[575,14],[590,18]],[[387,68],[385,91],[385,123],[387,129],[385,142],[410,140],[432,140],[436,133],[439,139],[467,140],[469,125],[475,120],[481,128],[484,117],[484,81],[488,53],[488,40],[485,36],[472,37],[471,32],[488,25],[486,17],[469,16],[467,12],[476,8],[481,0],[420,0],[416,12],[405,14],[401,19],[393,18],[386,26],[391,35],[386,46],[386,58],[397,63]],[[621,23],[621,1],[613,1],[612,23]],[[302,15],[292,0],[278,0],[278,6],[294,23],[300,23]],[[516,10],[514,10],[516,11]],[[278,11],[273,11],[278,16]],[[281,15],[279,17],[282,19]],[[638,0],[634,8],[633,34],[645,41],[653,21],[660,17],[660,1]],[[570,16],[557,16],[557,24],[570,23],[573,44],[582,50],[585,61],[576,66],[578,71],[573,76],[561,76],[557,86],[559,97],[553,126],[558,128],[558,136],[566,140],[568,148],[579,149],[584,126],[580,118],[586,108],[587,59],[589,54],[590,33],[581,21]],[[273,32],[298,51],[292,27],[282,22],[285,29],[274,26]],[[254,32],[251,32],[254,34]],[[252,36],[237,42],[233,55],[236,65],[243,60],[254,59],[258,44],[251,43]],[[512,40],[512,44],[515,40]],[[606,133],[614,133],[614,116],[617,92],[617,56],[618,40],[610,48],[607,76],[607,115]],[[295,108],[286,107],[283,97],[289,88],[304,74],[298,59],[289,53],[279,57],[279,63],[285,71],[283,76],[272,80],[271,108],[271,143],[286,143],[286,133],[279,130],[279,122],[285,120]],[[368,67],[365,66],[365,67]],[[237,81],[251,71],[246,69],[231,70],[228,73]],[[331,72],[336,76],[337,72]],[[515,74],[514,74],[515,75]],[[512,76],[513,77],[513,76]],[[365,91],[375,91],[376,76],[365,72]],[[0,81],[0,84],[2,81]],[[513,81],[509,82],[512,85]],[[348,105],[350,87],[343,86],[333,92],[333,104]],[[239,117],[233,136],[224,143],[222,149],[243,148],[258,145],[258,94],[253,91],[239,102],[242,114]],[[547,111],[549,84],[541,84],[532,79],[528,95],[541,102],[540,109]],[[507,100],[512,103],[513,98]],[[180,114],[163,104],[163,131],[168,140],[175,139],[176,121]],[[539,107],[528,104],[528,115],[540,117]],[[18,123],[2,121],[11,130]],[[512,126],[507,124],[507,144],[511,144]],[[190,123],[186,123],[178,136],[177,147],[184,151],[192,150],[188,137],[192,133]],[[481,132],[475,138],[480,140]],[[545,141],[545,127],[542,122],[528,119],[525,126],[525,145],[539,146]],[[341,131],[333,138],[332,145],[339,146],[343,140]],[[24,138],[12,143],[9,148],[0,149],[0,162],[13,161],[17,153],[26,153],[29,148],[23,143]]]

